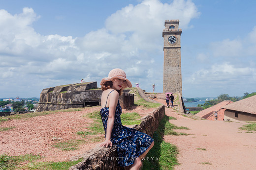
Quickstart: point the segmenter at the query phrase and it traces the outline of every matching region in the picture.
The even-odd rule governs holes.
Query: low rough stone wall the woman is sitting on
[[[144,96],[144,92],[137,88],[141,97],[145,100],[150,100],[146,96]],[[143,93],[142,93],[143,92]],[[144,94],[144,95],[143,95]],[[154,101],[156,102],[156,101]],[[160,120],[165,115],[164,105],[156,108],[153,112],[149,113],[149,115],[143,117],[141,119],[140,125],[134,125],[131,128],[139,130],[141,132],[147,133],[151,137],[154,132],[157,130]],[[116,152],[116,146],[113,147],[99,147],[85,152],[82,155],[78,155],[70,161],[78,160],[79,158],[84,158],[83,162],[76,164],[69,168],[69,170],[124,170],[124,167],[117,166],[118,155]]]

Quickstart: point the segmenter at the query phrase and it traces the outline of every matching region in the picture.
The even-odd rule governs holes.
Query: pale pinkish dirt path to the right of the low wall
[[[180,165],[175,170],[256,170],[256,132],[246,133],[239,129],[247,122],[194,120],[178,114],[173,108],[165,108],[165,114],[177,118],[170,123],[190,129],[177,129],[176,132],[191,134],[164,136],[165,142],[179,149]]]

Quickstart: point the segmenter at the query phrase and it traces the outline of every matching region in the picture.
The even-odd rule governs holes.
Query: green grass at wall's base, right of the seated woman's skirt
[[[178,148],[162,140],[167,122],[167,116],[160,121],[159,128],[153,136],[155,145],[143,161],[142,170],[173,170],[175,165],[179,165],[177,161]],[[149,161],[147,158],[149,158]]]

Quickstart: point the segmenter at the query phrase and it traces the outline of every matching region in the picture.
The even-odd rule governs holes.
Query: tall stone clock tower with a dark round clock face
[[[181,83],[181,33],[179,20],[165,20],[163,37],[163,93],[179,92]]]

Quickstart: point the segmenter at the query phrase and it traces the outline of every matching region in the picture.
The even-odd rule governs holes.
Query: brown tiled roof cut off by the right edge
[[[256,114],[256,95],[236,101],[227,106],[223,106],[223,108],[239,112]]]

